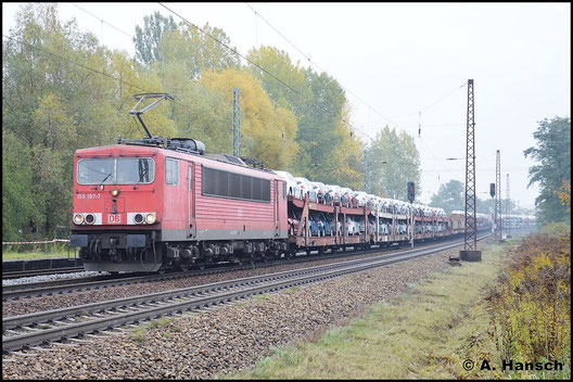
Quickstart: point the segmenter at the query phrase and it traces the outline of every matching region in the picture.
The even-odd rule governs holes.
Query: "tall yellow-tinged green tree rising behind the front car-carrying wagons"
[[[296,115],[298,155],[293,171],[361,189],[362,142],[349,131],[349,106],[340,84],[326,73],[293,64],[286,52],[273,47],[252,49],[247,58],[254,63],[249,64],[251,73],[272,103]]]

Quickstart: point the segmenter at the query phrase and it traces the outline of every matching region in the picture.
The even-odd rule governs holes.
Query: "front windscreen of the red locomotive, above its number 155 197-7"
[[[79,184],[151,183],[154,179],[155,162],[152,158],[89,158],[78,162]]]

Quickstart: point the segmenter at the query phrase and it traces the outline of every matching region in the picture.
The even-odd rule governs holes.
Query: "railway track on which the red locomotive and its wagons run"
[[[425,243],[424,245],[428,245]],[[339,257],[348,257],[355,255],[362,255],[367,253],[377,253],[377,252],[386,252],[396,250],[396,246],[389,247],[377,247],[370,250],[356,251],[353,253],[349,252],[336,252],[328,255],[306,255],[298,256],[290,259],[272,260],[267,263],[255,263],[250,265],[217,265],[209,269],[204,270],[193,270],[187,272],[173,272],[166,275],[141,275],[137,273],[119,273],[119,275],[102,275],[102,276],[92,276],[87,278],[76,278],[76,279],[63,279],[63,280],[51,280],[51,281],[40,281],[40,282],[29,282],[14,285],[7,285],[2,288],[2,301],[13,301],[18,298],[27,297],[37,297],[43,295],[55,295],[64,293],[73,293],[79,291],[89,291],[98,290],[103,288],[111,286],[120,286],[129,285],[135,283],[142,282],[152,282],[152,281],[166,281],[175,280],[189,277],[199,277],[214,273],[222,273],[228,271],[238,271],[238,270],[250,270],[262,267],[273,267],[277,265],[286,265],[286,264],[296,264],[313,262],[318,259],[332,259]]]

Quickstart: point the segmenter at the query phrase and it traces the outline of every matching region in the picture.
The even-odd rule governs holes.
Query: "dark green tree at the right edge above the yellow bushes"
[[[557,191],[562,180],[571,183],[571,120],[556,116],[540,120],[533,137],[536,147],[523,152],[538,165],[530,167],[530,183],[539,183],[539,195],[535,199],[537,221],[540,224],[571,221],[570,214],[561,206]]]

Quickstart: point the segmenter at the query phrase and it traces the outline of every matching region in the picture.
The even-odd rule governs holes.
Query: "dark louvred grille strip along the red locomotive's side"
[[[203,194],[270,202],[270,180],[203,167]]]

